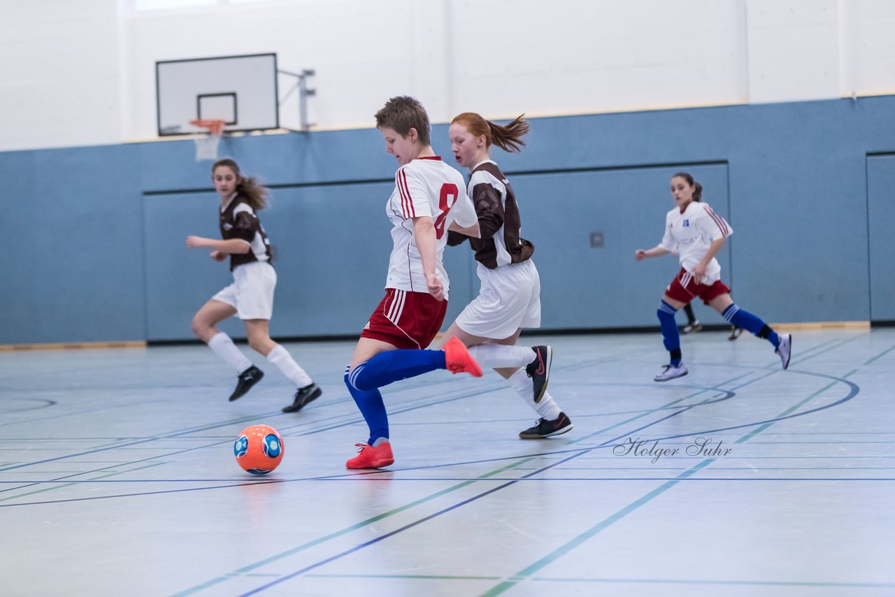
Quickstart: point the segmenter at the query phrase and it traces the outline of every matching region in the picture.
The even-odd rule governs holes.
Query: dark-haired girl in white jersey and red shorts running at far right
[[[678,309],[697,296],[718,311],[728,323],[771,342],[774,352],[780,355],[783,369],[786,369],[792,337],[777,334],[763,320],[740,309],[730,298],[730,288],[720,280],[721,267],[715,255],[733,230],[723,217],[702,202],[702,195],[703,186],[696,183],[693,176],[686,172],[672,176],[671,196],[676,207],[665,217],[665,235],[661,243],[652,249],[637,249],[635,252],[635,259],[640,261],[677,251],[681,265],[678,276],[665,289],[658,311],[662,341],[671,360],[654,380],[668,381],[686,375],[674,316]]]

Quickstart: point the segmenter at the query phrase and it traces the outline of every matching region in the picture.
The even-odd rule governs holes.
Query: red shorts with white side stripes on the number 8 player
[[[386,288],[386,296],[363,327],[361,337],[388,342],[398,348],[426,348],[439,333],[447,301],[429,293]]]

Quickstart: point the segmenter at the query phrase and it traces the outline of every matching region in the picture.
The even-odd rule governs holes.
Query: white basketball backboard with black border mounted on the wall
[[[277,55],[156,63],[158,136],[205,132],[192,120],[222,119],[225,131],[279,128]]]

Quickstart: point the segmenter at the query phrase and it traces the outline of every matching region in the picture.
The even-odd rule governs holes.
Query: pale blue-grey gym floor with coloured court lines
[[[202,345],[0,353],[0,593],[895,594],[895,329],[796,332],[789,371],[703,331],[662,384],[658,334],[523,342],[573,431],[517,439],[537,417],[497,374],[435,371],[385,388],[396,463],[368,472],[353,342],[286,345],[324,388],[298,414],[244,345],[267,376],[234,403]],[[266,477],[234,462],[255,423]]]

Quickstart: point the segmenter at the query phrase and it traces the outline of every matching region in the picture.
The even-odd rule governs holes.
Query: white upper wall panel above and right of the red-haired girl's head
[[[452,4],[465,106],[512,115],[746,102],[742,2]]]

